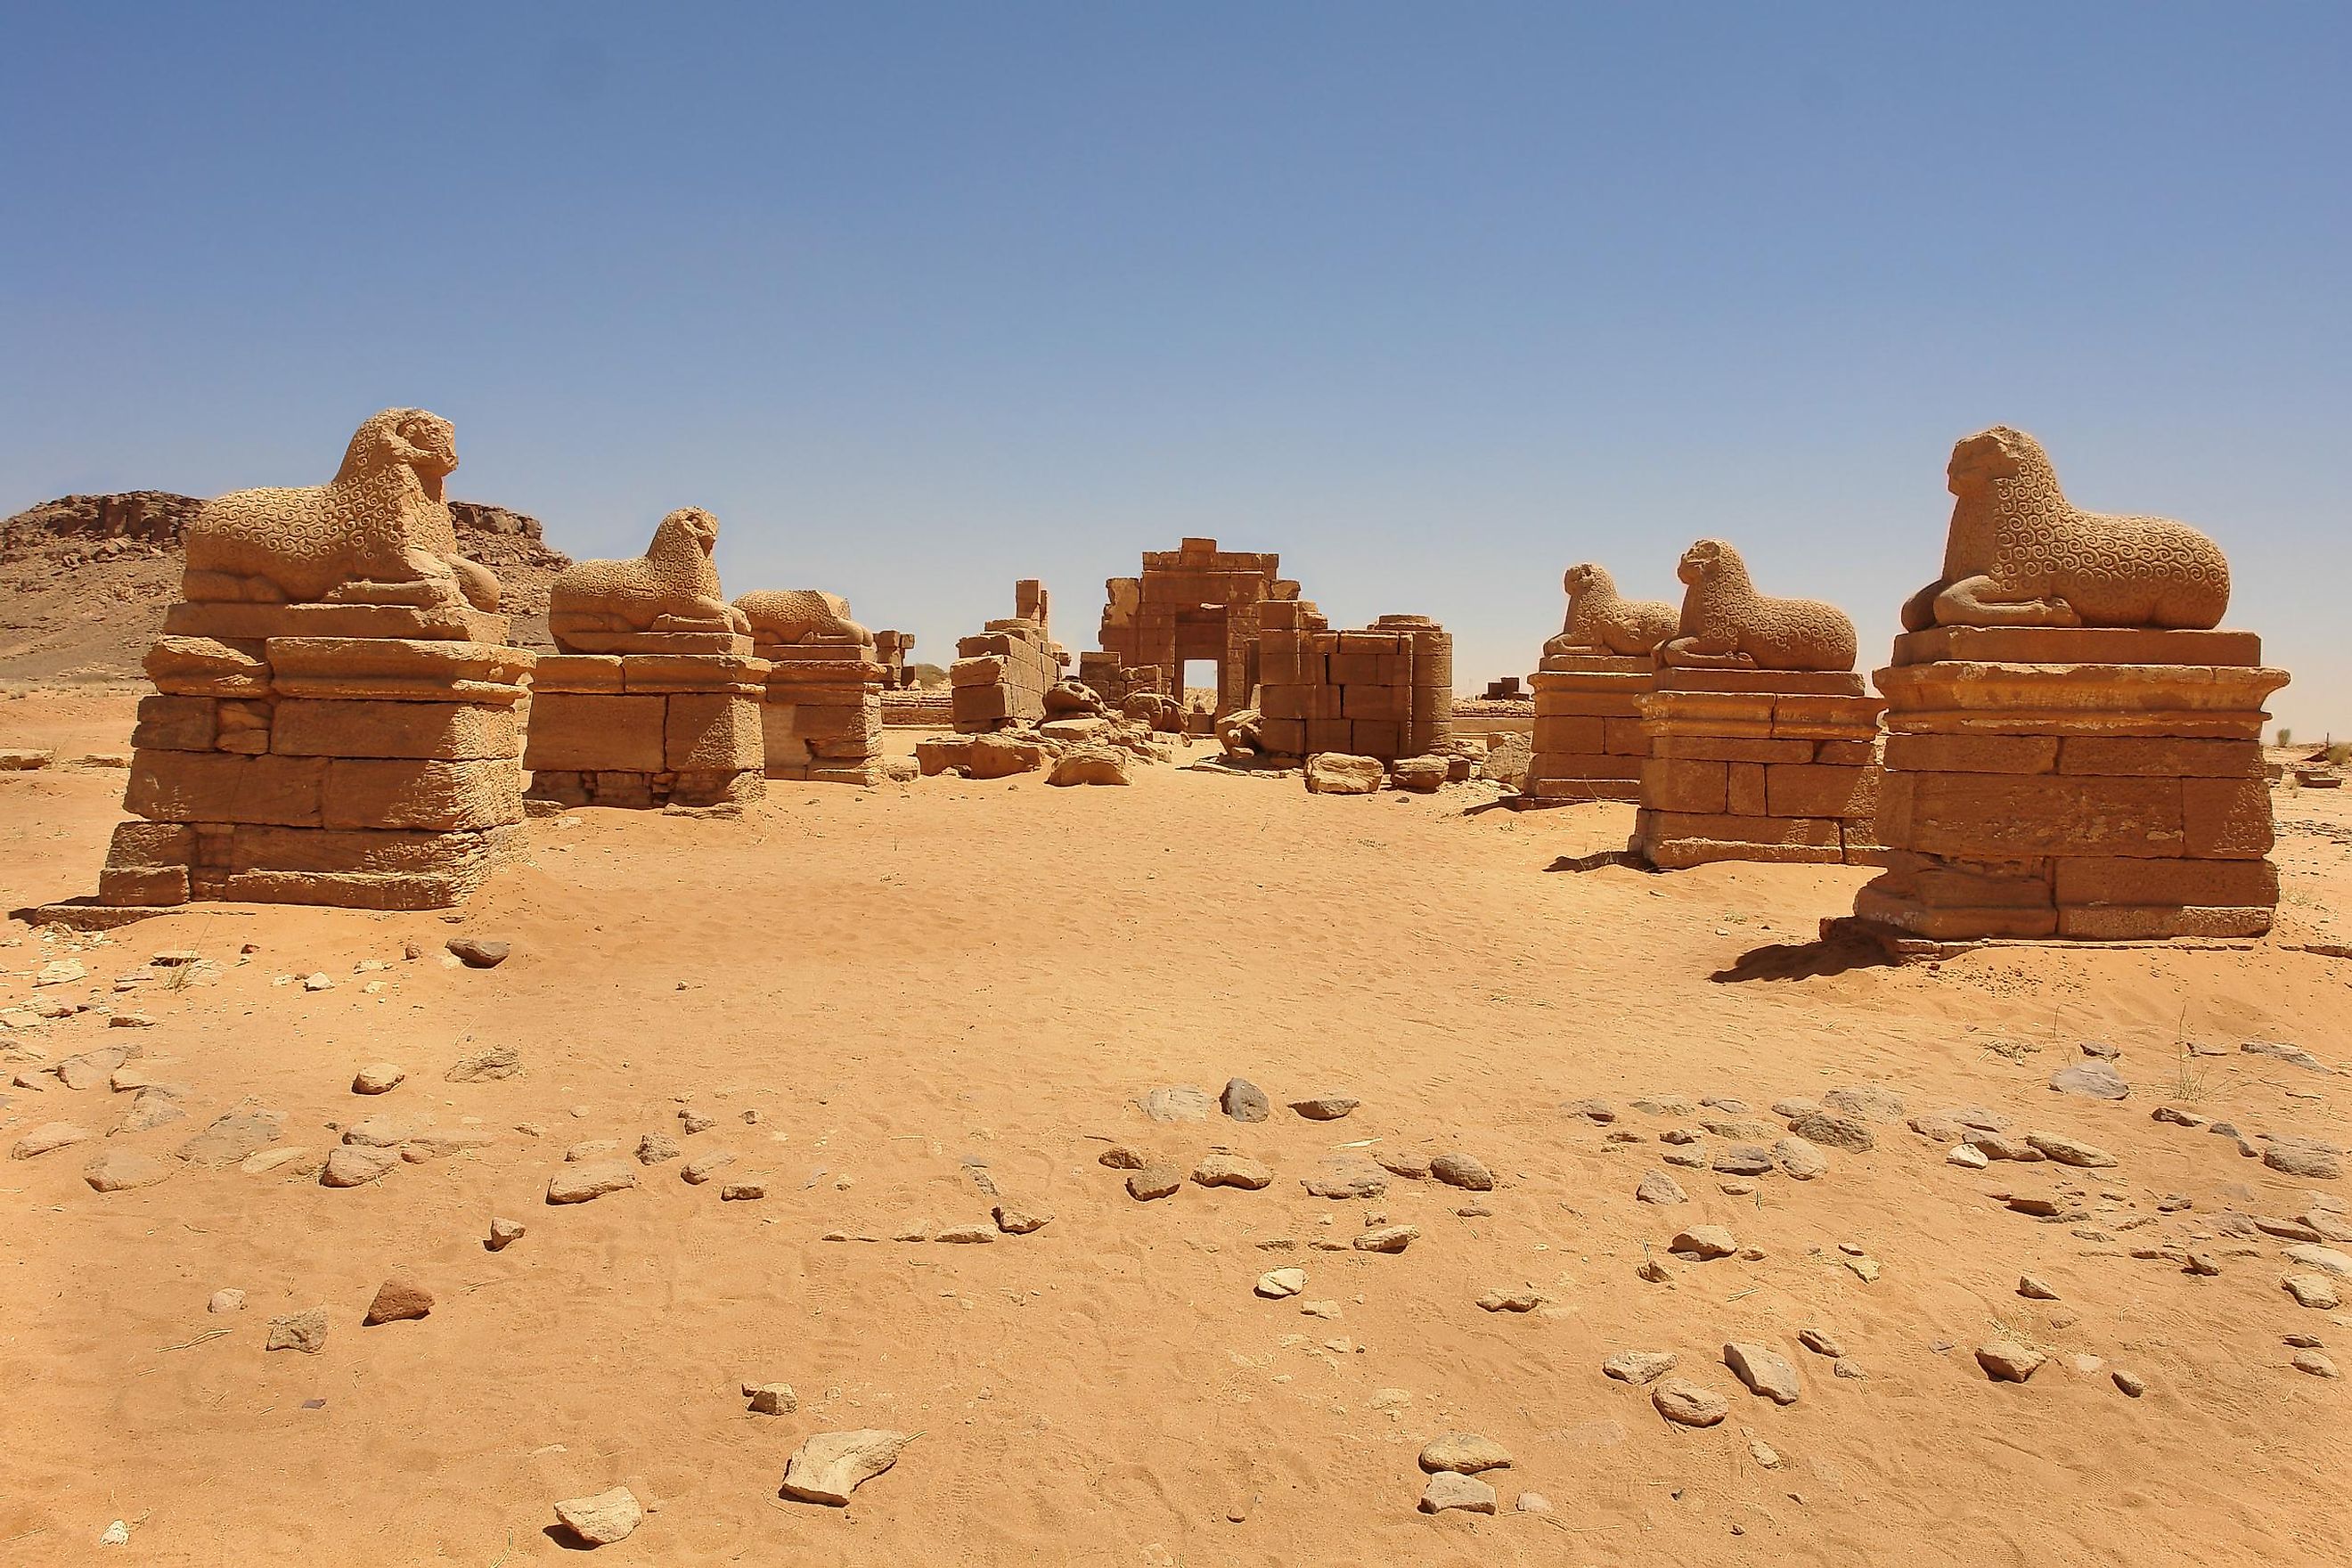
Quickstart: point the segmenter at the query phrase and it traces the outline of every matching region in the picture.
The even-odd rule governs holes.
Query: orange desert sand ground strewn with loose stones
[[[94,884],[122,773],[71,759],[125,750],[134,701],[0,701],[0,748],[61,757],[0,773],[9,907]],[[1900,969],[1816,943],[1870,867],[1644,875],[1609,858],[1630,804],[1183,766],[1124,790],[776,785],[741,820],[574,811],[447,914],[12,924],[0,1143],[89,1138],[0,1182],[0,1561],[553,1563],[576,1552],[553,1505],[614,1486],[647,1507],[600,1547],[614,1563],[2345,1561],[2352,1392],[2286,1340],[2352,1368],[2352,1312],[2300,1307],[2281,1276],[2321,1272],[2286,1258],[2310,1241],[2249,1215],[2343,1229],[2352,1204],[2260,1159],[2272,1135],[2352,1143],[2352,959],[2303,950],[2352,943],[2352,809],[2274,799],[2286,896],[2263,943]],[[513,957],[459,966],[454,936]],[[151,961],[169,952],[200,961]],[[56,961],[82,973],[40,983]],[[2084,1044],[2129,1098],[2049,1086]],[[111,1131],[136,1088],[40,1072],[108,1046],[186,1114]],[[447,1081],[489,1046],[522,1072]],[[407,1077],[358,1095],[369,1063]],[[1216,1112],[1230,1077],[1268,1121]],[[1204,1088],[1207,1119],[1150,1121],[1164,1086]],[[1825,1147],[1813,1180],[1665,1164],[1771,1147],[1773,1103],[1853,1086],[1900,1112],[1865,1095],[1872,1147]],[[1310,1121],[1287,1110],[1305,1095],[1359,1107]],[[1616,1119],[1569,1110],[1588,1098]],[[172,1159],[247,1100],[303,1154]],[[1950,1107],[2117,1164],[1950,1164],[1950,1135],[1905,1124]],[[421,1159],[320,1185],[369,1117]],[[1700,1138],[1661,1143],[1677,1128]],[[447,1133],[485,1138],[435,1154]],[[647,1133],[734,1152],[722,1180],[764,1197],[637,1164]],[[637,1187],[550,1206],[583,1140],[614,1140],[590,1159]],[[1112,1145],[1183,1171],[1230,1150],[1272,1182],[1138,1201],[1098,1164]],[[120,1150],[167,1178],[94,1192],[85,1168]],[[1449,1150],[1494,1190],[1301,1185],[1334,1157]],[[1689,1201],[1635,1201],[1653,1171]],[[997,1234],[997,1201],[1051,1222]],[[487,1251],[492,1218],[527,1234]],[[1418,1237],[1352,1248],[1371,1225]],[[1670,1255],[1696,1225],[1757,1255]],[[891,1239],[955,1227],[993,1239]],[[1277,1267],[1305,1272],[1296,1298],[1254,1293]],[[430,1314],[362,1326],[393,1274]],[[240,1312],[207,1312],[223,1288]],[[1482,1309],[1494,1291],[1536,1302]],[[263,1349],[310,1307],[318,1354]],[[1973,1352],[1994,1340],[2049,1361],[1990,1380]],[[1788,1356],[1797,1401],[1750,1394],[1726,1342]],[[1672,1352],[1729,1418],[1663,1420],[1602,1373],[1628,1349]],[[795,1408],[750,1413],[767,1382]],[[779,1495],[804,1439],[854,1427],[920,1436],[844,1509]],[[1446,1432],[1508,1450],[1496,1516],[1416,1512],[1416,1455]],[[99,1544],[115,1521],[127,1549]]]

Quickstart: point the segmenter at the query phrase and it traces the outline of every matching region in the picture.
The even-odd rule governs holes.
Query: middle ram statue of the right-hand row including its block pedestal
[[[1884,703],[1853,672],[1853,623],[1830,604],[1759,595],[1717,538],[1691,545],[1679,576],[1677,632],[1658,644],[1642,698],[1632,853],[1656,867],[1875,860]]]

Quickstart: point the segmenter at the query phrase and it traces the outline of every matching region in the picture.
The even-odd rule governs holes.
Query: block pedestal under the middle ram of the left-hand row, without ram
[[[652,646],[661,632],[633,635]],[[760,799],[767,661],[750,637],[670,632],[677,651],[546,654],[522,766],[564,806],[717,806]]]

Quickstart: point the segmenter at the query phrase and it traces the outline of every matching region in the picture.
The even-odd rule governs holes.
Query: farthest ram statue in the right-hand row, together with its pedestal
[[[1642,698],[1658,672],[1658,644],[1679,616],[1663,599],[1618,597],[1609,571],[1569,567],[1569,616],[1543,644],[1534,675],[1536,733],[1519,788],[1522,806],[1639,799],[1649,731]]]

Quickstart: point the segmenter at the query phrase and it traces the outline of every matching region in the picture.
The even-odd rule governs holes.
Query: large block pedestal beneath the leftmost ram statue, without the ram
[[[470,609],[174,604],[99,903],[461,903],[522,835],[536,656],[503,639]]]

